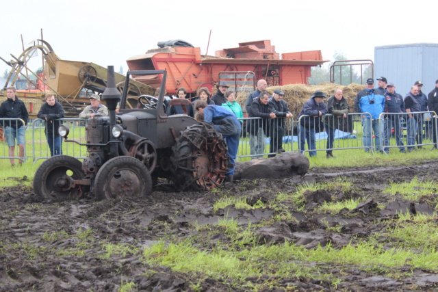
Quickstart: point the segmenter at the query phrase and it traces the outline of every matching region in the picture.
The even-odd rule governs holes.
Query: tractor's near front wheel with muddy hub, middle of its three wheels
[[[114,157],[97,172],[93,193],[96,200],[149,196],[152,194],[151,174],[138,159]]]

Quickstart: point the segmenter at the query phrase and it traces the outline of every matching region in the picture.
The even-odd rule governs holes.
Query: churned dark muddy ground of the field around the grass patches
[[[435,206],[427,202],[398,200],[382,194],[390,183],[411,181],[413,176],[438,180],[438,161],[396,168],[335,168],[310,170],[303,177],[235,181],[220,191],[176,192],[162,184],[151,198],[94,202],[83,198],[74,202],[48,202],[36,196],[28,187],[12,187],[0,191],[0,291],[118,291],[126,282],[136,284],[135,291],[246,291],[248,283],[264,291],[435,291],[438,272],[413,269],[411,276],[391,278],[359,266],[342,267],[331,263],[320,265],[326,274],[341,279],[334,285],[318,277],[275,279],[273,287],[268,276],[248,277],[238,285],[229,280],[209,278],[172,271],[165,265],[155,266],[144,261],[142,254],[118,252],[105,256],[103,243],[129,244],[145,248],[158,241],[177,241],[205,233],[201,249],[215,243],[227,243],[216,224],[226,215],[237,219],[242,226],[251,222],[259,244],[275,245],[290,241],[307,249],[318,245],[343,246],[360,236],[366,238],[387,228],[386,221],[400,211],[433,213]],[[301,211],[290,202],[287,206],[295,220],[273,221],[275,211],[244,210],[225,207],[213,211],[213,204],[224,194],[246,197],[248,204],[269,202],[283,193],[292,193],[303,182],[322,183],[337,176],[355,184],[355,191],[315,191],[306,194]],[[26,178],[18,178],[18,180]],[[315,206],[327,200],[368,198],[354,211],[340,215],[318,214]],[[378,205],[385,204],[385,209]],[[263,225],[263,222],[267,222]],[[330,226],[341,226],[339,232]],[[208,236],[207,236],[208,234]],[[202,236],[201,236],[202,237]],[[388,245],[395,243],[387,240]],[[263,243],[262,243],[263,242]],[[205,245],[203,245],[205,244]],[[250,247],[247,247],[250,248]],[[293,261],[293,259],[291,259]],[[313,263],[301,263],[312,265]],[[320,263],[319,263],[320,264]],[[411,267],[396,268],[402,272]]]

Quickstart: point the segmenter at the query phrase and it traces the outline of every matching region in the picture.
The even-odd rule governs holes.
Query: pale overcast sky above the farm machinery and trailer
[[[5,3],[6,2],[6,3]],[[18,57],[44,40],[64,60],[114,65],[164,40],[185,40],[208,54],[239,42],[271,40],[277,53],[338,51],[374,59],[374,47],[438,43],[435,1],[25,0],[1,4],[0,57]],[[36,58],[34,58],[36,59]],[[40,64],[40,62],[39,62]],[[31,68],[40,65],[36,64]],[[9,66],[0,60],[3,75]]]

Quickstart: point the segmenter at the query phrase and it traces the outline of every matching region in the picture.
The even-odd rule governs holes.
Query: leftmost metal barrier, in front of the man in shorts
[[[24,124],[25,121],[21,118],[0,118],[0,127],[2,130],[1,142],[3,142],[0,158],[9,158],[12,164],[14,164],[15,159],[21,159],[23,162],[27,159],[26,128],[23,127]],[[12,137],[14,138],[12,139]],[[21,141],[22,139],[23,141]],[[18,144],[18,142],[21,143]],[[15,147],[17,144],[18,147]],[[6,151],[6,148],[8,148],[8,151]],[[16,152],[18,152],[18,155],[16,155]],[[6,153],[8,153],[8,155],[6,155]]]

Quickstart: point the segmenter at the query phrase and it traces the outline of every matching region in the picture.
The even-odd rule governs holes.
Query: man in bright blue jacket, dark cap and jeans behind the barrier
[[[374,79],[368,78],[365,85],[365,89],[357,93],[355,99],[355,111],[357,113],[363,113],[362,116],[362,128],[363,128],[363,146],[365,152],[369,152],[373,148],[372,144],[372,132],[376,136],[374,144],[376,151],[381,150],[381,120],[380,115],[385,108],[385,97],[380,89],[374,89]],[[368,113],[368,114],[365,114]]]

